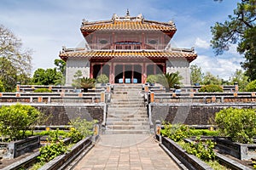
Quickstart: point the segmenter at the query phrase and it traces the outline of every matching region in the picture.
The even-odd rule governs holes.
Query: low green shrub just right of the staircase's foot
[[[183,124],[164,124],[164,129],[161,130],[161,133],[175,142],[190,136],[189,127]]]

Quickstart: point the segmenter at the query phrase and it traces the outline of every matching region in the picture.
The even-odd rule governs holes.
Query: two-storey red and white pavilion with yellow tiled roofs
[[[177,31],[172,21],[131,17],[127,10],[124,17],[113,14],[111,20],[83,20],[80,31],[84,47],[62,48],[60,53],[67,62],[67,85],[79,70],[83,77],[106,74],[112,84],[145,83],[148,75],[178,71],[183,85],[190,84],[189,63],[197,54],[194,48],[172,48]]]

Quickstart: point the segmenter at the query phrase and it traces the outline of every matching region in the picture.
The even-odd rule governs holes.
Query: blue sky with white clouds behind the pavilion
[[[244,58],[236,46],[216,56],[210,46],[211,26],[228,20],[240,0],[1,0],[0,25],[12,31],[32,49],[33,71],[53,68],[62,46],[79,47],[82,20],[110,20],[113,14],[143,14],[146,20],[172,20],[177,31],[172,47],[192,48],[198,54],[190,65],[198,65],[206,73],[228,80],[241,69]]]

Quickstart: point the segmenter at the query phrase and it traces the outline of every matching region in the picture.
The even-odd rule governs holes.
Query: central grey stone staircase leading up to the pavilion
[[[114,85],[106,131],[108,134],[149,133],[142,85]]]

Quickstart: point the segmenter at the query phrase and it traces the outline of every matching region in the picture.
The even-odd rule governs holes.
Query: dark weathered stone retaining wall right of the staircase
[[[256,104],[150,104],[156,120],[188,125],[212,125],[215,113],[227,107],[256,108]]]

